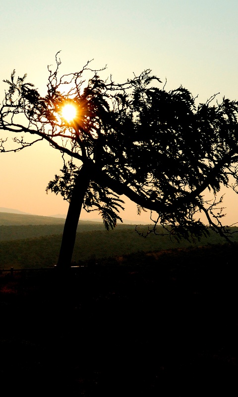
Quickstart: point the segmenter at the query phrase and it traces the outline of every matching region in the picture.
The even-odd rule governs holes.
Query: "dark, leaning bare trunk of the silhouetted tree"
[[[68,206],[68,212],[63,228],[63,236],[60,247],[60,255],[57,267],[68,269],[71,266],[73,248],[75,244],[78,220],[80,217],[83,199],[90,181],[90,172],[83,164],[75,179],[75,185]]]

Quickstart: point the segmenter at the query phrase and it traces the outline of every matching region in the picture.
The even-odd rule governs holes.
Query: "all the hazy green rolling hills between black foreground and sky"
[[[0,213],[0,268],[54,267],[60,251],[62,221],[64,220],[45,216]],[[137,252],[226,242],[215,232],[196,243],[184,239],[177,242],[170,236],[154,234],[143,238],[135,232],[135,226],[122,223],[115,230],[107,231],[103,223],[79,221],[72,258],[74,265],[83,265],[83,262],[92,259],[100,262],[103,258]],[[146,232],[148,227],[151,228],[151,225],[138,225],[137,228]],[[233,227],[231,230],[234,232],[232,240],[237,242],[238,228]],[[158,232],[162,232],[162,228],[158,227]]]

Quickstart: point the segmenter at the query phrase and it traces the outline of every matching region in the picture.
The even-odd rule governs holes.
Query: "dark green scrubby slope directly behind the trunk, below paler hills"
[[[238,228],[233,228],[238,231]],[[234,235],[234,242],[238,241],[238,234]],[[203,238],[197,246],[226,243],[218,234],[211,233]],[[0,269],[51,267],[57,264],[60,251],[61,235],[45,236],[34,239],[22,239],[0,242]],[[107,257],[119,257],[134,252],[161,251],[173,248],[196,246],[188,241],[172,241],[168,236],[161,237],[154,234],[147,238],[140,237],[133,229],[116,228],[106,230],[87,231],[77,233],[73,253],[73,261],[93,261]]]

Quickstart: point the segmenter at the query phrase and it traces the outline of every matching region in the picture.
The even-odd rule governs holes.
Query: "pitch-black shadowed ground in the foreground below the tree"
[[[237,258],[215,246],[2,273],[2,396],[237,396]]]

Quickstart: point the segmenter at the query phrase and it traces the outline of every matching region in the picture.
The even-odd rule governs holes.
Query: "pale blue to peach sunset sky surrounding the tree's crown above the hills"
[[[123,82],[152,69],[167,89],[187,88],[198,101],[215,93],[238,100],[237,0],[8,0],[0,2],[0,102],[13,69],[46,92],[48,65],[60,53],[60,72],[93,59]],[[0,207],[38,215],[65,214],[68,203],[46,194],[62,166],[47,143],[0,153]],[[226,224],[238,221],[238,197],[226,190]],[[223,193],[223,192],[222,192]],[[123,219],[140,217],[126,200]],[[83,219],[97,217],[83,211]]]

